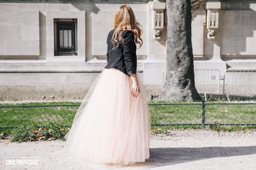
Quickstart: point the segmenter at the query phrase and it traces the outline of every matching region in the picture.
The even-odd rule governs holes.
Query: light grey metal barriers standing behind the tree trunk
[[[199,93],[253,96],[256,94],[256,70],[194,69],[195,87]],[[164,88],[166,69],[162,73]]]

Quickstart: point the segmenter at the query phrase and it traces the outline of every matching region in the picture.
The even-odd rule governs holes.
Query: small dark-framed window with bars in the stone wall
[[[54,19],[55,56],[77,56],[77,19]]]

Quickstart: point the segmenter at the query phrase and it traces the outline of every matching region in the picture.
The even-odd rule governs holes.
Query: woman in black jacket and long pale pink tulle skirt
[[[136,74],[136,44],[142,46],[141,33],[131,7],[121,6],[107,36],[107,65],[65,136],[73,156],[122,165],[149,158],[151,119],[145,89]]]

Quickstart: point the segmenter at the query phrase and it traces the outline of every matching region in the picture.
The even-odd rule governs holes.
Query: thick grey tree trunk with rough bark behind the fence
[[[190,0],[166,0],[168,18],[163,99],[200,100],[195,88]]]

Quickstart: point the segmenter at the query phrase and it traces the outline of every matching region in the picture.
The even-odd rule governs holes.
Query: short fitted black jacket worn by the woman
[[[111,43],[115,29],[112,29],[107,36],[107,65],[104,68],[116,68],[121,72],[130,75],[136,73],[137,56],[134,32],[125,30],[122,33],[124,44],[120,43],[115,49]]]

